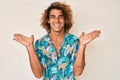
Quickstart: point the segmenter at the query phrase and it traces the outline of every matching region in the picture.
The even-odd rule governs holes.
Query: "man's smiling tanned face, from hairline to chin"
[[[52,9],[49,15],[49,21],[51,31],[61,32],[64,31],[64,16],[61,10]]]

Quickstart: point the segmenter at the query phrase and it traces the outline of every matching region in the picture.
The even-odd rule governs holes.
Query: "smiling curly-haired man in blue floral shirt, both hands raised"
[[[31,69],[43,80],[75,80],[85,66],[86,45],[100,34],[99,30],[81,34],[69,33],[72,27],[72,10],[69,5],[54,2],[44,12],[41,25],[48,32],[41,39],[15,34],[14,40],[23,44],[29,55]]]

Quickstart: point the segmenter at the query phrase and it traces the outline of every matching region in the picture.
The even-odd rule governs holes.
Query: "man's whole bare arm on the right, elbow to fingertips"
[[[85,48],[88,43],[97,38],[100,34],[99,30],[92,31],[88,34],[82,33],[80,36],[80,47],[76,55],[76,61],[74,64],[74,73],[76,76],[82,74],[85,65]]]

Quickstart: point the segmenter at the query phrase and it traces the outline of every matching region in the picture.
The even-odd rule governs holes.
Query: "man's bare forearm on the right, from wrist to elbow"
[[[80,45],[78,53],[76,55],[76,61],[74,63],[74,73],[76,76],[82,74],[85,65],[85,48],[86,46]]]

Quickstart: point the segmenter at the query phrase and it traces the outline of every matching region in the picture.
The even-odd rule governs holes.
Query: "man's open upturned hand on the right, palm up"
[[[85,34],[84,32],[80,36],[80,45],[86,46],[89,42],[100,36],[100,30],[94,30]]]

